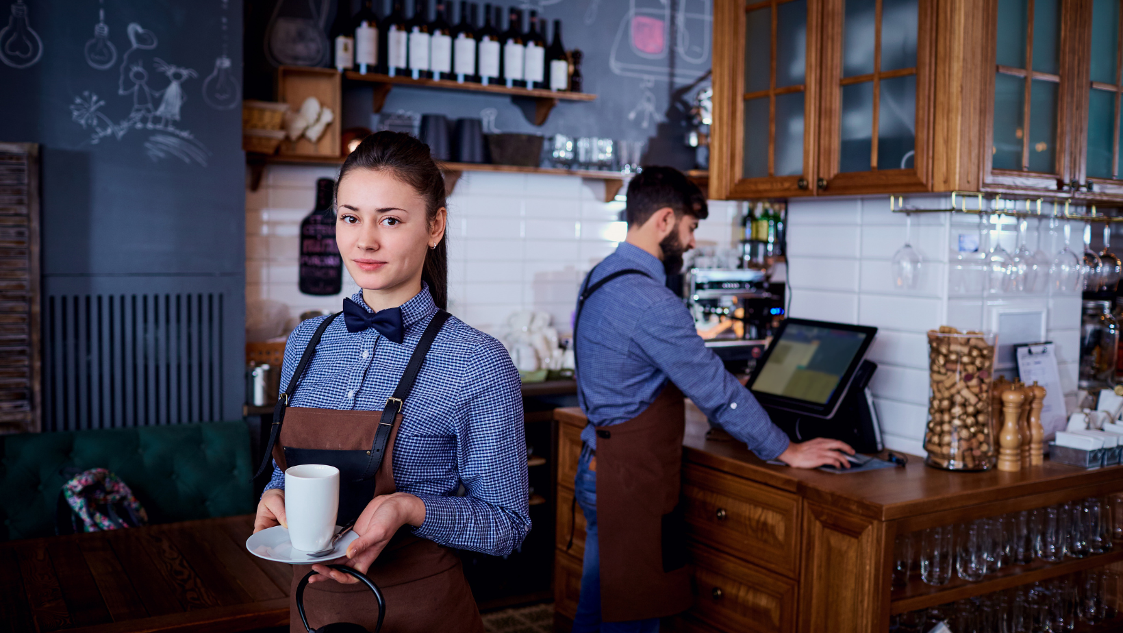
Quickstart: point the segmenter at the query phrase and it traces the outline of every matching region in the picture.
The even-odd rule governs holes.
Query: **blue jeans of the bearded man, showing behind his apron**
[[[596,540],[596,473],[588,470],[592,452],[581,451],[574,496],[585,515],[585,560],[581,572],[581,598],[573,633],[658,633],[659,618],[601,622],[601,549]]]

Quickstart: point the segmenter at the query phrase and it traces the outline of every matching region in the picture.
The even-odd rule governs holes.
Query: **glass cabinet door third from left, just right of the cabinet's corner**
[[[1065,0],[997,0],[987,184],[1065,190]]]

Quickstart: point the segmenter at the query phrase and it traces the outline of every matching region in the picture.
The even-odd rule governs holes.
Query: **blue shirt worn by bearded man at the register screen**
[[[761,459],[783,453],[787,435],[705,346],[690,310],[666,287],[663,262],[622,242],[591,273],[590,284],[624,269],[650,277],[626,274],[608,282],[585,301],[581,313],[578,398],[590,421],[581,438],[595,449],[594,426],[636,417],[670,380],[710,422],[748,444]]]

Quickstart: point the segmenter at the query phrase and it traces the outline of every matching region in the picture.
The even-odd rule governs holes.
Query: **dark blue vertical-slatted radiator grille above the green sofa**
[[[222,419],[223,295],[52,295],[44,429]]]

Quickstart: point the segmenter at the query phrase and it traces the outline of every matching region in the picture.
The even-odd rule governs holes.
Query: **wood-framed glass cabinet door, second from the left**
[[[926,0],[830,0],[818,184],[831,193],[923,190],[931,63]],[[923,22],[923,24],[922,24]]]

